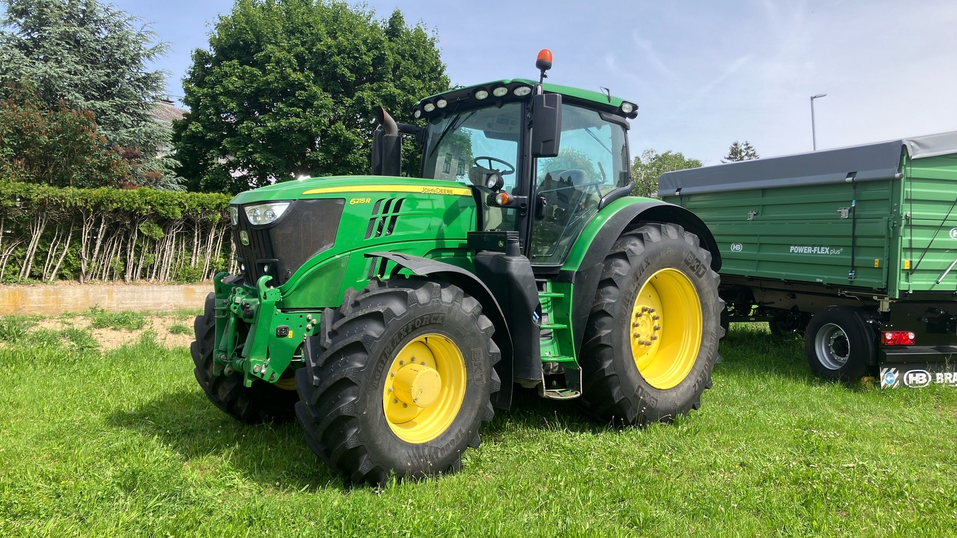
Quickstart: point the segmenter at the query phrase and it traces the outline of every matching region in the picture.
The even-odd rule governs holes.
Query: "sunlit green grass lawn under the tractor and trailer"
[[[735,326],[701,411],[618,432],[523,392],[462,472],[350,487],[217,411],[185,348],[0,347],[0,536],[957,535],[957,391],[812,377]]]

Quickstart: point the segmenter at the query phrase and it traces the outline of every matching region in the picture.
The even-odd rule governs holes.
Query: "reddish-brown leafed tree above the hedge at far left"
[[[0,101],[0,179],[54,187],[117,187],[131,170],[100,134],[93,113],[53,110],[31,87],[10,89]]]

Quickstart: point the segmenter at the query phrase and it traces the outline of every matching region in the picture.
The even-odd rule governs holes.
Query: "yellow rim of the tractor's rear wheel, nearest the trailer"
[[[656,389],[678,385],[695,365],[701,347],[701,299],[678,269],[661,269],[634,298],[632,355],[638,372]]]

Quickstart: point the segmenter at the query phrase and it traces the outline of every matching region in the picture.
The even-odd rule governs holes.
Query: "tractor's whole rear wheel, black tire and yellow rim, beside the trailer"
[[[586,412],[643,426],[701,407],[724,332],[710,261],[698,236],[675,224],[618,237],[585,328]]]

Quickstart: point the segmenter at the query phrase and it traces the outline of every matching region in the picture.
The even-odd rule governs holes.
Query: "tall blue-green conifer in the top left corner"
[[[47,110],[90,111],[110,144],[151,157],[169,129],[150,115],[165,95],[165,75],[146,63],[164,55],[167,45],[154,42],[140,19],[97,0],[5,2],[0,92],[31,80]]]

